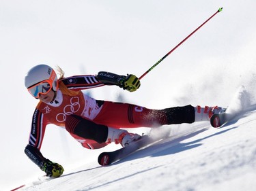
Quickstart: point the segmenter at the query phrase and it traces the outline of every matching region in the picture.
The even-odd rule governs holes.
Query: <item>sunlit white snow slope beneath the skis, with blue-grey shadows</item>
[[[244,103],[248,92],[241,87],[227,109],[236,116],[222,128],[163,126],[171,129],[169,139],[109,167],[95,160],[20,190],[255,190],[256,105]]]

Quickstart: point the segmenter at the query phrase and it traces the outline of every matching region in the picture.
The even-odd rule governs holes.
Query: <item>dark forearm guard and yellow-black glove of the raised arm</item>
[[[139,86],[141,86],[139,78],[133,74],[125,76],[106,71],[100,71],[96,77],[100,82],[106,85],[116,85],[120,88],[123,88],[124,90],[128,90],[129,92],[134,92],[139,88]]]

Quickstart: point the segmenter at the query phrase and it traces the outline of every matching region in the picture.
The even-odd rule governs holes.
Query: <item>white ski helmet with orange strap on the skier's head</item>
[[[25,86],[29,88],[44,80],[48,80],[48,82],[52,85],[53,90],[57,91],[57,75],[53,68],[49,67],[48,65],[37,65],[31,68],[25,76]]]

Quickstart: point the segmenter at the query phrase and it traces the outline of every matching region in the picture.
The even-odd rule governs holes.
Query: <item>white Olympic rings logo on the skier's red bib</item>
[[[65,122],[67,116],[70,116],[80,109],[80,104],[79,104],[79,97],[72,97],[70,99],[70,105],[66,105],[63,108],[63,113],[59,113],[56,116],[56,120],[58,122]]]

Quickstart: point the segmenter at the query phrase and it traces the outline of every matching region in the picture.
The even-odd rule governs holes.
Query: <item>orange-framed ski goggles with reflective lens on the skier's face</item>
[[[27,90],[29,90],[29,93],[33,97],[39,98],[40,94],[48,94],[48,92],[50,92],[52,88],[52,83],[49,80],[44,80],[42,82],[39,82],[38,84],[27,88]]]

